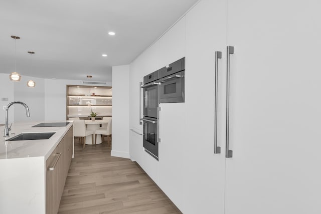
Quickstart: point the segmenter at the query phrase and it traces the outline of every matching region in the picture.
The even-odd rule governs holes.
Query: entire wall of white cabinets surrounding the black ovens
[[[183,48],[182,41],[175,43],[182,36],[182,19],[132,63],[131,126],[141,130],[136,125],[139,81],[182,53],[186,56],[185,130],[179,127],[178,135],[173,133],[177,110],[161,105],[159,133],[158,185],[181,211],[321,213],[320,6],[312,0],[202,0],[184,18]],[[227,46],[234,47],[231,158],[225,157]],[[215,51],[222,52],[217,85],[220,154],[214,154]],[[152,162],[151,170],[147,154],[139,154],[142,168],[154,176],[157,164]]]

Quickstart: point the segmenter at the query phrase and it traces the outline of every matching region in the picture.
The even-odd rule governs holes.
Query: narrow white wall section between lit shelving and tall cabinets
[[[111,155],[129,158],[129,65],[112,67]]]

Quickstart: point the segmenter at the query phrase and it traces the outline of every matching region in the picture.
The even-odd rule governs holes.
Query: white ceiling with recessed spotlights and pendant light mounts
[[[26,76],[111,81],[112,66],[129,64],[196,2],[0,0],[0,73],[13,72],[16,59]],[[16,58],[12,35],[21,37]]]

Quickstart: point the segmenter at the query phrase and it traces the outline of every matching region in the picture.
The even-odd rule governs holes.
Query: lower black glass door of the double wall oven
[[[157,120],[144,117],[143,119],[143,147],[158,157]]]

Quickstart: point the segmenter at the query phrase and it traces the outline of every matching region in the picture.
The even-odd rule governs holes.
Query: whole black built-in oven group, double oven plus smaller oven
[[[143,78],[143,147],[158,160],[159,103],[185,101],[185,58]]]

